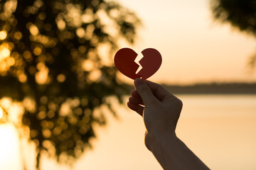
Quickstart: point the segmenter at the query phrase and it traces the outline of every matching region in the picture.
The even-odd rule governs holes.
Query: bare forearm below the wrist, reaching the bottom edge
[[[176,135],[150,138],[149,149],[164,169],[209,169]]]

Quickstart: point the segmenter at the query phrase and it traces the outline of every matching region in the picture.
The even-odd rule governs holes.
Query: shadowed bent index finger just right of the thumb
[[[149,89],[151,89],[152,93],[154,96],[156,96],[157,99],[159,99],[159,101],[166,101],[170,98],[176,98],[164,86],[161,86],[160,84],[156,84],[148,80],[145,80],[145,83],[149,86]]]

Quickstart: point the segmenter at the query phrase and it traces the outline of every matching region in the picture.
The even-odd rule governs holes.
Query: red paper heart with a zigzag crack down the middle
[[[154,48],[146,48],[142,51],[142,60],[139,60],[142,69],[136,74],[139,64],[134,62],[137,53],[130,48],[122,48],[114,55],[114,64],[125,76],[136,79],[151,77],[161,66],[161,54]]]

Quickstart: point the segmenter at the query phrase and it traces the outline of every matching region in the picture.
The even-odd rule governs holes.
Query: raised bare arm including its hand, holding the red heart
[[[145,145],[164,169],[208,169],[176,137],[182,102],[159,84],[135,79],[135,91],[127,105],[142,115],[146,126]]]

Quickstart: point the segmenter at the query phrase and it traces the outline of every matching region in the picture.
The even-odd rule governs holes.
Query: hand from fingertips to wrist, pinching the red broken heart
[[[181,113],[182,102],[164,86],[151,81],[135,79],[127,106],[143,116],[146,126],[145,144],[150,150],[151,140],[174,135]]]

